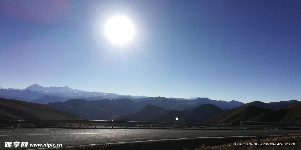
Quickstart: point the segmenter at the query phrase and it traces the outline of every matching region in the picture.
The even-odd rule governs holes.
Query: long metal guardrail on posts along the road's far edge
[[[231,125],[231,124],[225,124],[225,125],[213,125],[213,124],[185,124],[185,123],[167,123],[167,122],[137,122],[137,121],[107,121],[107,120],[19,120],[19,121],[0,121],[0,125],[11,125],[11,124],[18,124],[18,127],[20,127],[20,124],[42,124],[43,123],[79,123],[79,127],[82,126],[82,123],[88,123],[88,124],[95,124],[95,128],[97,127],[98,123],[101,124],[112,124],[112,128],[114,124],[125,124],[125,127],[127,128],[128,124],[135,124],[135,125],[171,125],[173,128],[175,126],[184,126],[186,127],[193,127],[193,128],[204,128],[204,127],[235,127],[235,128],[283,128],[283,126],[275,126],[275,125]],[[61,125],[60,125],[61,126]]]

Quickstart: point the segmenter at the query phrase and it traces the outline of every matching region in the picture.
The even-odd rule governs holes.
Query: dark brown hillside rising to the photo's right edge
[[[263,113],[248,121],[301,123],[301,102]]]

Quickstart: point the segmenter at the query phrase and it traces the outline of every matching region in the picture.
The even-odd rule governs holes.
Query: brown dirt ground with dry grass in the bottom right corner
[[[253,139],[220,146],[200,145],[197,150],[300,150],[301,136],[268,137],[260,139],[260,143],[256,143],[257,140]]]

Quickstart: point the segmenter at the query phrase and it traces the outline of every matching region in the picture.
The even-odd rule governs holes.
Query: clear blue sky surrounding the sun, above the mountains
[[[113,44],[105,24],[134,35]],[[301,1],[0,1],[0,86],[301,101]]]

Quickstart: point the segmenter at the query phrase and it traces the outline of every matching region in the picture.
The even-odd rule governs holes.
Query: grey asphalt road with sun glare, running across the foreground
[[[301,134],[299,130],[191,130],[191,129],[59,129],[59,128],[10,128],[0,129],[0,149],[5,142],[29,144],[62,144],[78,146],[102,143],[145,140],[180,139],[196,137],[228,137]],[[12,144],[13,145],[13,144]],[[20,148],[20,147],[18,147]],[[34,147],[31,147],[34,148]],[[36,147],[42,148],[42,147]]]

